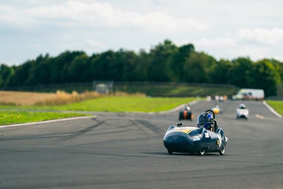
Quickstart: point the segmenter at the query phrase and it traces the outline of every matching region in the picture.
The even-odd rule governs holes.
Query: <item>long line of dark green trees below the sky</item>
[[[191,43],[176,46],[166,39],[149,53],[120,49],[88,56],[83,51],[66,51],[57,57],[39,55],[19,66],[0,65],[0,86],[92,80],[223,83],[262,88],[268,97],[275,96],[276,84],[283,83],[283,63],[274,59],[253,62],[249,57],[217,61],[196,52]]]

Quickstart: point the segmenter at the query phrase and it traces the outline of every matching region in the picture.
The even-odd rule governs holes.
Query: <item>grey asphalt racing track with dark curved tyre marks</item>
[[[212,102],[191,106],[196,126]],[[93,112],[96,117],[0,128],[0,188],[283,188],[283,124],[262,102],[218,103],[229,141],[219,153],[169,155],[163,136],[178,112]],[[259,116],[258,116],[259,115]]]

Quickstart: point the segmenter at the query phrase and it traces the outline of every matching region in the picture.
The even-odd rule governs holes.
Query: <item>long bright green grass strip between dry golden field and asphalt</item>
[[[101,97],[60,106],[0,106],[0,109],[159,112],[175,108],[196,99],[197,98]]]

